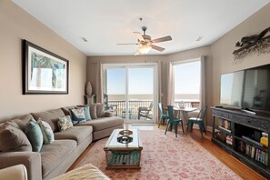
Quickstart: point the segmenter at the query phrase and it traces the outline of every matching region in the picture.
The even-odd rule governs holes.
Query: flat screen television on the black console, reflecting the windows
[[[221,75],[220,105],[270,112],[270,65]]]

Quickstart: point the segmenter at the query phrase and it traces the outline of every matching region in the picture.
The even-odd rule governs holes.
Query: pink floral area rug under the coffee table
[[[105,170],[105,143],[99,140],[77,165],[92,164],[112,179],[241,179],[189,135],[165,130],[140,130],[143,142],[141,169]]]

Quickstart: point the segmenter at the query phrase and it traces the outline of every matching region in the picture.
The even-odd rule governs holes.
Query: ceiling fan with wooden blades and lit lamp
[[[150,49],[155,49],[156,51],[163,52],[165,50],[164,47],[153,45],[153,44],[161,43],[165,41],[171,41],[172,37],[170,35],[167,35],[167,36],[152,40],[150,35],[145,34],[146,29],[147,29],[146,26],[142,27],[142,30],[144,31],[144,35],[142,35],[139,32],[134,32],[134,34],[137,37],[138,43],[127,43],[127,44],[117,44],[117,45],[141,45],[138,47],[138,50],[135,52],[135,55],[141,55],[141,54],[145,55],[150,51]]]

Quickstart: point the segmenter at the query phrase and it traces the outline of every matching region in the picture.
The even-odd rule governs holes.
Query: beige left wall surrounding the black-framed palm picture
[[[84,103],[86,56],[11,1],[0,1],[0,119]],[[22,39],[69,60],[68,95],[23,95]]]

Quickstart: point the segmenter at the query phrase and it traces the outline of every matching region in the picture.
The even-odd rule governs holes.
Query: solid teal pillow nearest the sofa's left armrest
[[[25,134],[28,137],[34,152],[40,152],[43,145],[42,131],[35,121],[31,119],[25,126]]]

